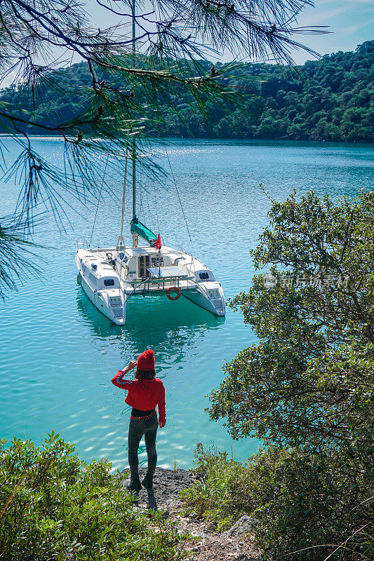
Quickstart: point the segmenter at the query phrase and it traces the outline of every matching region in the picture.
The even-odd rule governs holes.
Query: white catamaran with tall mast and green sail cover
[[[133,1],[133,14],[135,2]],[[135,18],[133,18],[133,53],[135,53]],[[165,294],[171,300],[181,295],[215,316],[225,316],[225,296],[213,272],[191,253],[161,243],[161,236],[142,224],[136,213],[136,150],[132,145],[133,217],[132,245],[123,238],[126,194],[126,168],[123,182],[121,234],[115,247],[91,249],[76,243],[77,282],[109,320],[124,325],[128,299],[146,294]],[[127,163],[127,157],[126,157]],[[139,244],[139,238],[145,245]]]

